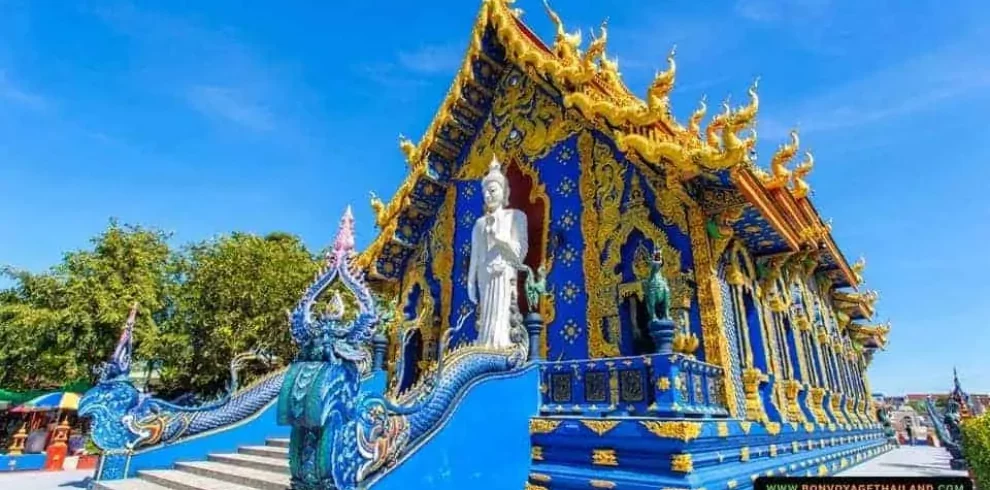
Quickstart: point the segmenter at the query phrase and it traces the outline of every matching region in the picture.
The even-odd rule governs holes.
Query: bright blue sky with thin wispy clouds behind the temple
[[[367,243],[368,192],[402,180],[397,136],[429,124],[480,2],[322,3],[0,0],[0,263],[43,270],[111,216],[318,248],[353,204]],[[987,2],[554,5],[586,39],[609,18],[639,93],[676,44],[682,120],[760,76],[761,161],[800,128],[816,206],[893,322],[874,389],[946,390],[955,365],[990,392]]]

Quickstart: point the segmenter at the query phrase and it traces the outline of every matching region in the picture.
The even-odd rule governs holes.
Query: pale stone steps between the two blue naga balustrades
[[[285,490],[289,488],[289,440],[268,439],[206,461],[176,463],[171,470],[139,471],[137,478],[95,482],[93,490]]]

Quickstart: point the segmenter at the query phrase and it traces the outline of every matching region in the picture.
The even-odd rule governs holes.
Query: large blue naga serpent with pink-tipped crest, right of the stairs
[[[526,359],[526,351],[518,346],[468,345],[446,352],[451,335],[467,318],[462,315],[441,336],[437,364],[411,388],[397,396],[362,390],[361,366],[370,360],[369,344],[382,318],[375,296],[352,264],[353,226],[348,208],[333,253],[291,312],[292,338],[300,352],[282,385],[278,419],[292,427],[294,490],[351,490],[368,484],[441,426],[463,388]],[[358,311],[350,321],[344,319],[336,292],[324,313],[313,312],[318,297],[334,281],[356,299]]]

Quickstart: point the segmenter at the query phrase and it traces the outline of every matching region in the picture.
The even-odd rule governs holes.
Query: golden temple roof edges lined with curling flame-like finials
[[[403,249],[412,245],[397,235],[400,221],[410,215],[435,212],[417,198],[423,189],[430,192],[441,192],[434,187],[442,189],[433,175],[431,155],[456,158],[459,151],[441,133],[449,132],[452,127],[461,132],[475,131],[465,127],[457,117],[459,113],[482,112],[471,100],[472,92],[497,96],[477,80],[479,61],[500,63],[485,52],[483,42],[488,33],[504,49],[506,64],[550,82],[561,93],[565,107],[576,109],[595,128],[610,133],[621,151],[635,152],[648,163],[676,169],[685,179],[729,171],[742,194],[766,217],[789,248],[821,250],[834,258],[834,265],[845,278],[843,282],[853,286],[860,282],[835,245],[830,226],[822,221],[809,200],[810,186],[805,178],[812,169],[811,154],[806,153],[804,162],[797,168],[787,169],[798,153],[797,133],[772,158],[771,173],[758,169],[751,161],[756,143],[753,126],[759,109],[756,82],[748,90],[747,104],[733,108],[728,102],[723,103],[720,112],[703,127],[707,106],[702,99],[687,125],[682,125],[670,110],[669,94],[677,74],[673,49],[667,56],[667,68],[657,73],[645,99],[641,99],[629,90],[617,62],[607,55],[608,31],[604,23],[599,34],[582,50],[580,33],[569,33],[560,16],[545,4],[556,28],[552,45],[547,45],[523,23],[521,13],[511,5],[511,0],[483,0],[464,60],[437,114],[417,144],[401,141],[409,175],[388,203],[372,199],[380,233],[357,261],[371,277],[380,276],[375,263],[386,248]]]

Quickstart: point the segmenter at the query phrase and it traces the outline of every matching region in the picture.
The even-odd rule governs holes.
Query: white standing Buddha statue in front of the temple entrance
[[[494,157],[481,187],[485,215],[478,218],[471,232],[468,298],[472,303],[480,299],[477,343],[507,348],[513,345],[509,333],[516,278],[528,247],[526,215],[506,207],[509,181]]]

